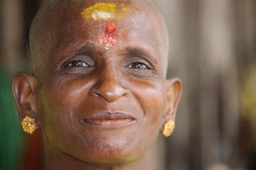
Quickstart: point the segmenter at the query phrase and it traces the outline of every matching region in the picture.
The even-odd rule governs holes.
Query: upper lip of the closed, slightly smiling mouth
[[[122,113],[122,112],[96,112],[93,114],[90,114],[86,117],[84,117],[85,121],[88,120],[96,120],[96,119],[102,119],[102,120],[112,120],[112,119],[129,119],[129,120],[136,120],[135,117],[131,116],[130,114],[127,113]]]

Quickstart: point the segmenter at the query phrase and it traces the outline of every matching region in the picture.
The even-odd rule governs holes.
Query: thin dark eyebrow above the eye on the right
[[[154,56],[157,55],[156,53],[152,52],[153,55],[154,55],[154,56],[153,56],[152,53],[150,53],[150,52],[148,52],[148,51],[145,51],[145,50],[142,49],[142,48],[127,47],[127,48],[124,49],[124,51],[123,51],[122,53],[124,53],[124,54],[130,54],[130,55],[132,54],[132,55],[138,56],[138,57],[145,57],[146,59],[152,61],[153,63],[159,63],[159,62],[157,61],[157,59],[154,57]]]

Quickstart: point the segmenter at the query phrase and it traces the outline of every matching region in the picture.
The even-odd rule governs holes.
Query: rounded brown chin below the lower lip
[[[104,142],[102,142],[104,141]],[[141,156],[150,148],[139,147],[140,143],[136,142],[125,142],[124,140],[97,140],[90,144],[86,143],[86,147],[76,151],[73,154],[69,154],[76,159],[102,166],[111,165],[124,165],[131,163]],[[81,147],[81,145],[80,145]],[[82,152],[81,152],[82,151]]]

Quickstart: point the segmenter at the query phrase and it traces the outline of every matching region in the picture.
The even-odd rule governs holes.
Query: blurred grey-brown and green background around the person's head
[[[0,1],[0,169],[45,169],[41,131],[22,130],[11,93],[29,70],[28,32],[43,0]],[[169,30],[168,78],[183,95],[151,169],[256,169],[256,1],[152,0]]]

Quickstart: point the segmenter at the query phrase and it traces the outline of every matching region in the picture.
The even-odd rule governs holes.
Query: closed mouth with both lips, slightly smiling
[[[83,124],[99,127],[121,127],[131,125],[136,122],[136,118],[125,113],[98,112],[86,116]]]

